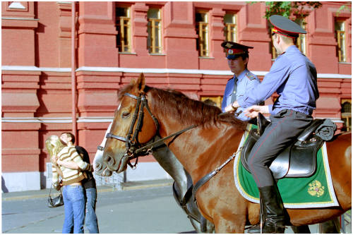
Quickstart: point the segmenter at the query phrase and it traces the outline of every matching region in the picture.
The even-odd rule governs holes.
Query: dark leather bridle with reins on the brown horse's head
[[[120,140],[125,143],[126,152],[124,156],[128,156],[128,165],[132,168],[136,167],[136,164],[138,162],[138,157],[152,154],[152,148],[156,147],[157,145],[160,145],[163,142],[163,140],[172,138],[173,136],[184,133],[185,131],[189,131],[190,129],[195,128],[197,126],[197,125],[191,125],[187,128],[184,128],[181,131],[173,133],[172,135],[168,135],[167,137],[161,138],[160,140],[154,141],[153,143],[143,146],[138,142],[138,133],[141,131],[141,128],[143,126],[143,108],[147,109],[148,114],[150,114],[152,120],[155,122],[156,134],[153,136],[153,138],[155,138],[155,136],[157,135],[160,129],[160,123],[158,123],[158,120],[152,114],[144,93],[141,93],[139,96],[131,95],[130,93],[125,93],[124,95],[137,100],[136,109],[135,109],[135,112],[133,113],[133,118],[131,119],[131,124],[130,124],[130,128],[128,129],[128,133],[124,137],[121,135],[114,135],[113,133],[109,132],[107,133],[106,138],[114,138],[116,140]],[[133,126],[135,126],[135,123],[136,123],[136,128],[135,130],[133,130]],[[134,158],[136,158],[136,162],[134,165],[132,165],[130,163],[130,160]]]

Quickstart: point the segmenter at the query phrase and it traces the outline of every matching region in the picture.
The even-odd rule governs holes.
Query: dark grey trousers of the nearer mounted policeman
[[[270,116],[271,123],[253,146],[249,169],[258,187],[273,186],[270,164],[313,121],[313,117],[284,109]]]

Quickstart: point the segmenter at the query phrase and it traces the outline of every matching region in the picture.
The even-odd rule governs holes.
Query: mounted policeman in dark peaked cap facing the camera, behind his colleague
[[[253,47],[248,47],[235,42],[223,42],[221,46],[225,49],[228,66],[233,78],[229,79],[225,86],[225,95],[222,100],[222,112],[225,112],[225,107],[238,100],[243,96],[246,90],[251,90],[256,85],[260,84],[260,80],[248,70],[249,51]],[[249,121],[251,118],[243,113],[244,107],[239,107],[235,116],[241,121]]]

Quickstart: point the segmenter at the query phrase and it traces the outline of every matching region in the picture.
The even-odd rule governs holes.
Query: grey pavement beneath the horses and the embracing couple
[[[138,181],[97,187],[100,233],[195,233],[172,195],[172,180]],[[61,234],[64,207],[47,207],[49,189],[2,193],[1,231],[11,234]],[[311,233],[318,225],[310,226]],[[87,231],[85,231],[87,232]],[[292,234],[287,227],[286,234]]]

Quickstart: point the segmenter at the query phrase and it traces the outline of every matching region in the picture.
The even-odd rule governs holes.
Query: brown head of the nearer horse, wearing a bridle
[[[118,173],[126,169],[130,159],[138,157],[135,151],[148,143],[158,129],[158,121],[148,107],[143,73],[121,89],[119,100],[102,156],[108,169]]]

